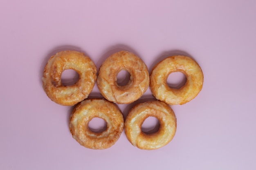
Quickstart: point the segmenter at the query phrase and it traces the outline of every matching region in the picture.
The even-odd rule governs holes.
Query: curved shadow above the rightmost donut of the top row
[[[148,67],[148,72],[149,74],[151,74],[153,68],[155,67],[155,65],[157,65],[159,62],[161,62],[162,60],[166,59],[167,57],[171,57],[173,55],[185,55],[188,57],[191,57],[191,55],[189,53],[187,53],[186,51],[182,51],[182,50],[170,50],[170,51],[164,51],[162,53],[160,53],[157,57],[156,60],[153,61],[153,63],[150,65],[150,67]],[[194,58],[191,57],[193,60]]]

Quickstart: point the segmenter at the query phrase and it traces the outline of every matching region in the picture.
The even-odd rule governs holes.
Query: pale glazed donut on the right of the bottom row
[[[141,131],[146,118],[159,120],[159,130],[153,134]],[[126,117],[124,130],[127,139],[133,146],[143,150],[154,150],[168,144],[176,132],[177,119],[168,104],[161,101],[148,101],[134,106]]]

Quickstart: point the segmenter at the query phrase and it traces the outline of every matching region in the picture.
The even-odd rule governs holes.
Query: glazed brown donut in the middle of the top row
[[[117,84],[117,75],[125,70],[130,81],[125,86]],[[149,86],[146,64],[128,51],[119,51],[108,57],[99,68],[97,86],[103,97],[117,104],[130,104],[139,99]]]

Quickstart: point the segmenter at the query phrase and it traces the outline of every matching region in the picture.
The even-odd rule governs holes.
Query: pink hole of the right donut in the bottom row
[[[153,134],[158,132],[160,128],[159,120],[156,117],[148,117],[141,125],[141,131],[146,134]]]

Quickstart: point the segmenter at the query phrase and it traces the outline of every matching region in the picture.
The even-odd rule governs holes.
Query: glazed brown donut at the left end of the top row
[[[61,74],[73,69],[79,80],[71,86],[61,84]],[[73,106],[88,97],[96,82],[97,68],[92,60],[78,51],[61,51],[47,62],[43,73],[43,89],[57,104]]]

